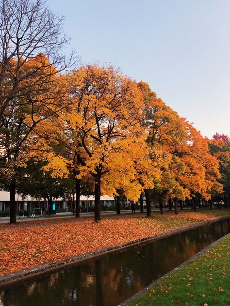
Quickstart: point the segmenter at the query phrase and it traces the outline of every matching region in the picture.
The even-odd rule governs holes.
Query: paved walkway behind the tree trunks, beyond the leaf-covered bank
[[[159,213],[160,214],[160,210],[157,208],[154,208],[152,210],[154,213]],[[164,212],[167,213],[174,213],[174,210],[169,211],[168,208],[163,210]],[[191,211],[191,207],[184,207],[183,210],[180,210],[180,208],[178,209],[179,212],[183,212],[183,211]],[[140,213],[140,210],[136,210],[136,213]],[[146,213],[146,210],[144,210],[144,213]],[[122,210],[121,214],[131,214],[131,210]],[[107,212],[101,212],[101,215],[116,215],[116,211],[107,211]],[[81,213],[80,217],[91,217],[94,216],[94,212],[90,212],[90,213]],[[48,219],[55,219],[55,218],[72,218],[74,217],[74,214],[72,214],[71,212],[65,212],[65,213],[57,213],[57,214],[53,214],[53,215],[47,215],[46,217],[44,216],[35,216],[35,218],[27,218],[25,217],[24,219],[22,217],[17,216],[16,217],[16,222],[25,222],[25,221],[34,221],[34,220],[48,220]],[[3,223],[9,223],[10,222],[10,217],[1,217],[0,218],[0,224]]]

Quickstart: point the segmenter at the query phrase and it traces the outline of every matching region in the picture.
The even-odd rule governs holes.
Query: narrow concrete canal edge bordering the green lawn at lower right
[[[149,284],[147,287],[145,287],[144,289],[142,289],[141,291],[137,292],[136,294],[133,294],[130,298],[128,298],[127,300],[125,300],[124,302],[122,302],[121,304],[119,304],[118,306],[129,306],[129,304],[131,302],[133,302],[133,300],[135,300],[136,298],[140,297],[141,295],[143,295],[146,291],[148,291],[149,288],[156,286],[160,281],[162,281],[165,277],[167,277],[168,275],[176,272],[177,270],[180,270],[182,267],[186,266],[186,264],[188,264],[190,261],[197,259],[197,257],[199,257],[200,255],[204,254],[206,251],[208,251],[209,249],[211,249],[212,247],[214,247],[215,245],[217,245],[218,243],[220,243],[224,238],[230,236],[230,233],[228,233],[227,235],[219,238],[218,240],[216,240],[214,243],[212,243],[211,245],[208,245],[207,247],[205,247],[204,249],[202,249],[201,251],[199,251],[196,255],[194,255],[193,257],[191,257],[190,259],[184,261],[183,263],[181,263],[179,266],[177,266],[176,268],[174,268],[173,270],[169,271],[168,273],[164,274],[163,276],[161,276],[160,278],[154,280],[154,282],[152,282],[151,284]]]

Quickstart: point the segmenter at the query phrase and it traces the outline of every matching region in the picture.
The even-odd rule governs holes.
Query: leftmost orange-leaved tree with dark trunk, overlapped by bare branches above
[[[44,64],[44,62],[46,64]],[[12,66],[16,69],[16,61],[11,60]],[[15,193],[16,180],[19,177],[18,170],[25,167],[30,155],[38,150],[40,155],[48,147],[36,134],[35,129],[47,118],[54,115],[66,107],[65,88],[63,87],[63,76],[57,76],[50,71],[55,71],[56,67],[49,64],[42,54],[30,58],[24,63],[20,74],[24,75],[39,69],[37,72],[37,83],[30,79],[21,82],[20,94],[11,99],[4,113],[0,117],[0,168],[2,180],[10,190],[10,222],[16,222],[15,215]],[[13,68],[12,68],[13,69]],[[20,75],[19,75],[20,76]],[[30,91],[24,91],[24,85]],[[5,85],[5,89],[11,88],[11,79]],[[48,150],[49,151],[49,150]]]

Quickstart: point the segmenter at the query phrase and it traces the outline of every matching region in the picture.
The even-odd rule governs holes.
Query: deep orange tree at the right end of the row
[[[220,178],[219,164],[209,152],[208,140],[185,119],[184,126],[186,137],[171,148],[171,153],[183,163],[183,172],[175,178],[183,188],[186,198],[194,200],[196,211],[198,199],[210,199],[212,188],[215,186],[221,192],[222,185],[217,181]]]

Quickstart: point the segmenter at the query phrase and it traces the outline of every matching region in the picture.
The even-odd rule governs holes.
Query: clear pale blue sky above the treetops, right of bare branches
[[[120,67],[211,138],[230,136],[230,0],[50,0],[82,63]]]

